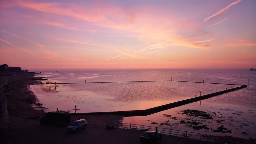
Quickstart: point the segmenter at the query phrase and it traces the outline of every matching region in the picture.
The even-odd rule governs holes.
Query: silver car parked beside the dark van
[[[75,132],[77,133],[81,129],[86,129],[88,122],[84,119],[79,119],[74,121],[70,126],[67,127],[67,132]]]

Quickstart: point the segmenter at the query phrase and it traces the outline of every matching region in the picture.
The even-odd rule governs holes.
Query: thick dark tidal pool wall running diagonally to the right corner
[[[190,99],[186,99],[186,100],[181,100],[181,101],[177,101],[177,102],[173,102],[173,103],[169,103],[169,104],[165,104],[165,105],[160,105],[160,106],[152,107],[152,108],[146,109],[146,110],[71,113],[71,115],[116,114],[116,115],[120,115],[120,116],[146,116],[146,115],[150,115],[150,114],[153,114],[153,113],[168,110],[168,109],[171,109],[171,108],[174,108],[174,107],[177,107],[177,106],[181,106],[181,105],[189,104],[189,103],[196,102],[196,101],[199,101],[199,100],[204,100],[204,99],[208,99],[208,98],[211,98],[211,97],[214,97],[214,96],[222,95],[224,93],[228,93],[228,92],[239,90],[239,89],[246,88],[246,87],[247,87],[247,85],[239,85],[239,87],[235,87],[235,88],[231,88],[231,89],[227,89],[227,90],[223,90],[223,91],[218,91],[218,92],[210,93],[210,94],[207,94],[207,95],[203,95],[203,96],[199,96],[199,97],[195,97],[195,98],[190,98]]]

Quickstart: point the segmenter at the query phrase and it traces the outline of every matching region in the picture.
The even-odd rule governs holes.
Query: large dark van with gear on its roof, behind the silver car
[[[70,124],[70,114],[67,111],[55,111],[46,113],[41,119],[42,125],[65,126]]]

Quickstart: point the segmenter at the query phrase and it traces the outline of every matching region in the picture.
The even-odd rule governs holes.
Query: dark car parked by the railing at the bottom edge
[[[160,132],[151,131],[151,130],[145,131],[140,136],[140,141],[142,143],[153,143],[161,139],[162,139],[162,134]]]

